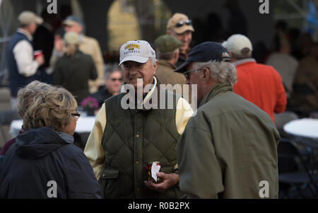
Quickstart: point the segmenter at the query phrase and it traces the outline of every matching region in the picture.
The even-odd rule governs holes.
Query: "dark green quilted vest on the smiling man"
[[[121,107],[124,93],[105,100],[106,127],[102,136],[105,163],[100,173],[104,198],[179,198],[177,186],[165,192],[149,190],[146,166],[160,161],[160,171],[172,173],[177,164],[175,146],[179,138],[175,124],[179,96],[173,96],[173,109],[124,110]],[[158,97],[160,97],[158,95]]]

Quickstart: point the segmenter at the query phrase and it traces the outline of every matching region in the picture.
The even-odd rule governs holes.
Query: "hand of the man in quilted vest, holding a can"
[[[151,180],[144,181],[145,185],[154,191],[164,192],[168,188],[176,185],[179,182],[179,175],[176,173],[166,174],[163,172],[157,173],[158,178],[162,181],[161,183],[155,184]]]

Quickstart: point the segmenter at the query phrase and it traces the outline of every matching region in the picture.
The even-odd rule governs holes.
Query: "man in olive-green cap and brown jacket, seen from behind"
[[[186,83],[186,78],[183,74],[173,72],[177,68],[175,64],[179,58],[179,47],[181,45],[182,42],[172,35],[161,35],[155,40],[159,62],[155,76],[160,84],[172,84],[172,86],[179,84],[181,86],[179,95],[182,96],[183,84]],[[172,91],[172,89],[170,90]]]

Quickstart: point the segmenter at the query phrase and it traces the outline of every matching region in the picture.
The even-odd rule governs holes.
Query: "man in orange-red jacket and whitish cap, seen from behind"
[[[231,35],[222,45],[231,52],[237,70],[233,91],[264,110],[274,122],[273,113],[283,113],[287,104],[281,76],[273,67],[257,64],[245,35]]]

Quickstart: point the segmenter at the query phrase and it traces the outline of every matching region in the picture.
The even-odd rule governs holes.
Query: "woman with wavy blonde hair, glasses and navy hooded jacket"
[[[100,198],[83,151],[73,144],[75,98],[64,88],[38,93],[23,115],[26,130],[0,165],[0,198]]]

